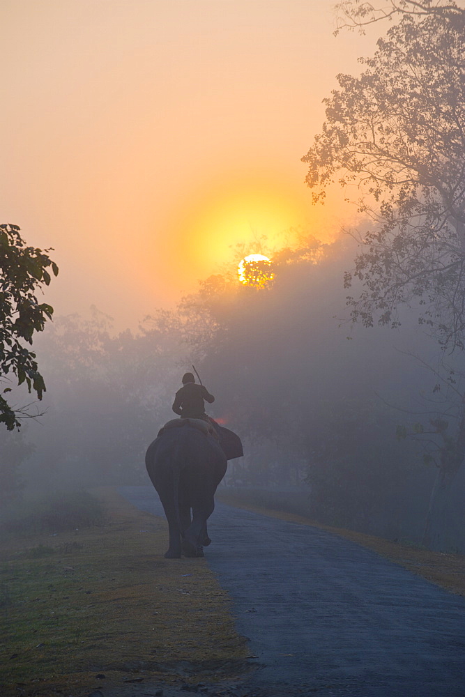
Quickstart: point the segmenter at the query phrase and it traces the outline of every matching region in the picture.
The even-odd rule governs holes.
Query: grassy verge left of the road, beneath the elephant
[[[112,489],[94,493],[98,524],[50,533],[55,521],[45,533],[35,519],[0,543],[2,697],[242,673],[246,640],[205,560],[165,560],[163,519]]]

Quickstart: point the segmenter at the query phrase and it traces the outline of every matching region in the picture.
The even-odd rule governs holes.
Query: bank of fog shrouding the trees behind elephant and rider
[[[222,487],[321,523],[420,542],[436,476],[423,456],[439,441],[398,438],[397,427],[411,434],[441,416],[453,433],[459,405],[444,357],[414,307],[396,330],[353,325],[342,276],[354,243],[342,238],[317,255],[312,244],[278,255],[266,288],[241,286],[231,266],[176,311],[140,318],[137,332],[114,332],[105,308],[56,317],[34,344],[47,392],[29,411],[42,415],[24,420],[20,434],[0,432],[3,491],[11,499],[149,484],[144,452],[173,418],[174,393],[194,363],[215,395],[208,413],[244,443]],[[445,358],[458,383],[461,361]],[[15,399],[27,396],[18,390]],[[465,546],[463,488],[459,474],[451,550]]]

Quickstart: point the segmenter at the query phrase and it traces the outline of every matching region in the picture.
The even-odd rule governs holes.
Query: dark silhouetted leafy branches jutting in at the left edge
[[[49,250],[28,247],[17,225],[0,225],[0,374],[15,375],[17,384],[26,383],[29,392],[42,399],[45,391],[43,376],[38,371],[36,354],[24,346],[32,344],[34,332],[41,332],[53,308],[38,302],[37,294],[51,280],[50,269],[56,276],[58,266],[49,258]],[[20,427],[22,410],[8,404],[0,395],[0,423],[9,431]]]

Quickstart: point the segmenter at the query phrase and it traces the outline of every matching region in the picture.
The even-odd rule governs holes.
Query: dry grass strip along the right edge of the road
[[[436,585],[445,588],[445,590],[465,596],[465,556],[462,554],[431,552],[427,549],[420,549],[408,541],[391,542],[388,539],[383,539],[383,537],[356,533],[345,528],[332,528],[305,518],[305,516],[274,510],[248,502],[245,503],[240,497],[238,498],[234,494],[225,491],[221,491],[217,496],[218,500],[231,506],[244,508],[245,510],[254,511],[270,518],[278,518],[289,523],[313,526],[314,528],[327,530],[328,533],[345,537],[351,540],[351,542],[356,542],[363,547],[367,547],[367,549],[372,549],[385,559],[408,569],[413,574],[422,576],[427,581],[436,583]]]

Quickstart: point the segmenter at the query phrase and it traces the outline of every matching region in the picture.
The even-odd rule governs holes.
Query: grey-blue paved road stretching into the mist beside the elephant
[[[123,487],[162,515],[151,487]],[[269,697],[465,697],[465,600],[318,528],[218,503],[206,549]]]

